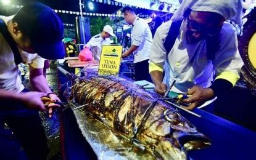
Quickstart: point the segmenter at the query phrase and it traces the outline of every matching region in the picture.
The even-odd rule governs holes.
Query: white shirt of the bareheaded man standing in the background
[[[146,20],[136,17],[131,30],[131,44],[138,46],[133,52],[134,63],[149,59],[152,41],[152,33]]]

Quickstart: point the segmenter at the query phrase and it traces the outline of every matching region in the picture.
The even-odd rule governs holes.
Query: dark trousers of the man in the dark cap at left
[[[27,92],[27,90],[23,90]],[[4,122],[19,138],[28,159],[47,159],[49,152],[46,135],[42,126],[41,118],[36,110],[29,110],[21,103],[0,102],[0,132],[4,130]],[[8,158],[10,153],[19,153],[10,144],[12,140],[7,140],[4,134],[0,133],[0,159]],[[15,155],[8,159],[14,158]],[[20,158],[19,158],[20,159]]]

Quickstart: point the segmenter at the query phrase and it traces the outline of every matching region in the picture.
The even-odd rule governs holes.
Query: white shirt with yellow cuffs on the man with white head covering
[[[163,23],[157,29],[152,43],[149,63],[154,63],[163,68],[167,54],[163,46],[168,31],[170,30],[171,20]],[[213,80],[213,71],[217,78],[227,79],[234,83],[239,79],[241,67],[244,64],[237,49],[236,32],[232,25],[224,23],[220,33],[220,49],[215,54],[215,59],[207,59],[207,47],[205,40],[197,44],[187,44],[184,38],[181,25],[180,33],[176,38],[175,44],[168,54],[168,64],[165,70],[170,77],[167,84],[176,80],[172,91],[177,93],[186,93],[193,86],[209,87]],[[192,60],[194,57],[194,60]],[[225,74],[224,74],[225,73]],[[225,77],[226,76],[226,77]],[[228,78],[230,76],[231,78]],[[166,83],[166,82],[165,82]]]

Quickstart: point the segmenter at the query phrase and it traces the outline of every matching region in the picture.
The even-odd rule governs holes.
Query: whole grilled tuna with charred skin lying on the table
[[[187,150],[210,145],[210,140],[175,108],[126,79],[79,79],[72,86],[70,100],[85,105],[83,110],[117,133],[136,139],[155,158],[187,159]]]

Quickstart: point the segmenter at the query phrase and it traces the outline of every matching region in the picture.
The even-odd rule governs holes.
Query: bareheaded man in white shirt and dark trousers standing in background
[[[133,25],[131,30],[131,47],[122,54],[122,58],[134,55],[134,71],[136,81],[151,82],[149,75],[149,52],[152,44],[152,34],[146,20],[136,16],[131,7],[123,7],[125,21]]]

